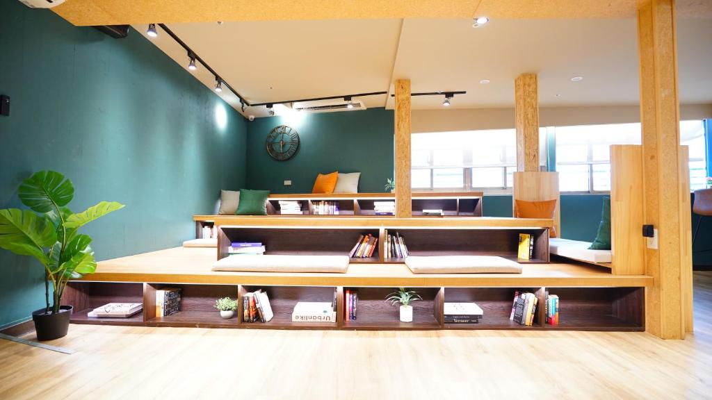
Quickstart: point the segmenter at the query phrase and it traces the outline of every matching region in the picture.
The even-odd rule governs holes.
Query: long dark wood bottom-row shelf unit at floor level
[[[155,290],[182,288],[181,310],[167,317],[155,317]],[[274,318],[270,322],[243,322],[241,296],[257,289],[269,296]],[[142,289],[142,290],[140,290]],[[345,290],[357,290],[359,302],[356,320],[347,320],[344,312]],[[423,300],[412,303],[413,322],[399,322],[397,305],[385,298],[397,288],[341,286],[274,285],[198,285],[153,283],[103,283],[71,281],[65,302],[74,305],[71,322],[94,325],[130,325],[152,327],[208,327],[244,329],[328,329],[328,330],[585,330],[644,331],[643,287],[604,288],[412,288]],[[299,301],[331,302],[337,292],[337,320],[333,322],[292,322],[293,307]],[[509,320],[515,290],[535,293],[539,303],[533,326]],[[560,297],[560,325],[545,324],[545,293]],[[236,315],[220,317],[212,307],[216,298],[229,296],[239,300]],[[93,307],[110,301],[144,302],[143,312],[127,319],[87,317]],[[444,302],[476,302],[484,315],[477,324],[444,323]],[[84,307],[82,310],[80,308]]]

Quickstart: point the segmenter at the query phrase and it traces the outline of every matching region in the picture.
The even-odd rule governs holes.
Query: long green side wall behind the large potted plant
[[[137,32],[113,39],[0,1],[0,49],[0,208],[21,206],[32,172],[56,169],[75,184],[73,210],[126,204],[84,229],[106,259],[179,246],[192,214],[244,186],[246,120]],[[44,285],[29,258],[0,251],[0,268],[3,327],[43,307]]]

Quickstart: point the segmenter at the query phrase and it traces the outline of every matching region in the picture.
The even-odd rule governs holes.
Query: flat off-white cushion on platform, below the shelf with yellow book
[[[409,256],[413,273],[521,273],[522,265],[496,256]]]

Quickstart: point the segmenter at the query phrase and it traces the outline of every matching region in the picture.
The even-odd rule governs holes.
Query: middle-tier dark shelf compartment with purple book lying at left
[[[232,242],[261,242],[265,254],[348,256],[360,235],[371,234],[379,238],[377,228],[231,228],[219,230],[220,258],[229,256]],[[371,258],[352,258],[353,262],[376,262],[378,248]]]

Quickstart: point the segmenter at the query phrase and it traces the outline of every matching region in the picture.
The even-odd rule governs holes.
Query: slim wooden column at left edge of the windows
[[[396,216],[413,214],[410,189],[410,80],[396,80]]]

